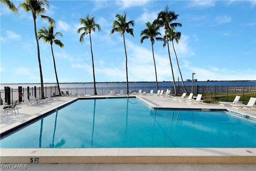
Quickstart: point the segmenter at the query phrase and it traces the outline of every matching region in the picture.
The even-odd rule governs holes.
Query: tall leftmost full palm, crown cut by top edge
[[[38,63],[39,63],[39,70],[40,70],[40,81],[41,81],[41,98],[44,99],[44,83],[43,83],[43,73],[42,73],[42,66],[41,66],[41,60],[40,60],[40,50],[39,50],[39,43],[38,43],[38,37],[36,32],[36,17],[41,16],[42,19],[48,20],[52,26],[55,26],[55,21],[44,15],[46,13],[46,9],[44,6],[49,7],[48,0],[25,0],[24,3],[21,3],[18,8],[23,8],[26,12],[32,12],[32,17],[34,20],[34,32],[36,36],[36,45],[37,45],[37,55],[38,55]]]

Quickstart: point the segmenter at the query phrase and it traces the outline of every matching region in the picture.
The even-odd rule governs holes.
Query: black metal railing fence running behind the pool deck
[[[18,100],[18,102],[22,102],[22,97],[28,97],[30,98],[31,95],[34,95],[36,98],[39,98],[41,96],[41,88],[40,87],[18,87],[18,88],[10,88],[10,87],[4,87],[5,89],[0,89],[0,105],[10,105],[14,103],[15,100]],[[162,86],[158,87],[159,89],[163,89],[166,91],[166,89],[170,89],[171,93],[174,93],[174,87],[172,86]],[[73,95],[80,95],[88,94],[88,95],[94,95],[94,88],[93,87],[70,87],[70,88],[60,88],[61,91],[68,91],[69,93]],[[112,89],[115,93],[120,93],[120,90],[123,90],[123,92],[126,94],[127,87],[96,87],[97,94],[98,95],[104,95],[108,94],[108,92]],[[142,92],[146,91],[147,93],[150,92],[151,89],[154,90],[154,93],[156,93],[156,87],[150,86],[150,87],[129,87],[129,92],[132,91],[138,91],[139,89],[142,90]],[[192,86],[186,86],[186,90],[188,93],[192,92]],[[184,88],[183,86],[177,87],[177,93],[183,93]],[[196,85],[193,87],[193,93],[194,95],[202,94],[204,99],[210,99],[212,100],[218,100],[221,99],[222,101],[233,101],[234,97],[236,95],[240,95],[240,101],[242,101],[244,104],[247,104],[250,97],[256,97],[256,86],[219,86],[219,85]],[[45,97],[58,95],[58,88],[57,86],[50,86],[50,87],[44,87],[44,95]]]

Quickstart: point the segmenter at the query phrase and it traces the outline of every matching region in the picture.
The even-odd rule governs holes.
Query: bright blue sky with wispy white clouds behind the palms
[[[24,1],[12,1],[16,6]],[[134,20],[134,37],[125,34],[129,81],[155,81],[150,40],[140,43],[140,32],[146,22],[156,19],[158,12],[169,10],[179,14],[182,36],[174,44],[183,79],[256,80],[256,1],[67,1],[50,0],[46,16],[56,22],[55,32],[64,48],[53,46],[59,82],[93,82],[89,35],[79,42],[80,18],[95,17],[101,32],[92,33],[96,82],[126,82],[123,39],[110,35],[116,14],[127,12]],[[19,16],[1,6],[1,83],[40,83],[36,40],[32,14],[19,9]],[[37,29],[49,24],[37,18]],[[160,32],[164,35],[164,29]],[[39,40],[44,83],[56,82],[49,43]],[[155,42],[154,55],[158,81],[173,81],[167,47]],[[174,77],[178,67],[170,44]]]

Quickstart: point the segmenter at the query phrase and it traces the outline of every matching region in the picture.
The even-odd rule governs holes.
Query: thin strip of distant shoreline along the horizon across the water
[[[172,81],[162,81],[162,82],[172,82]],[[181,82],[181,81],[179,81]],[[184,81],[186,82],[186,81]],[[192,82],[192,81],[190,81]],[[227,80],[210,80],[210,81],[196,81],[196,82],[256,82],[256,80],[234,80],[234,81],[227,81]],[[92,84],[93,82],[65,82],[65,83],[59,83],[59,84]],[[96,83],[126,83],[126,82],[96,82]],[[154,83],[154,82],[129,82],[129,83]],[[158,82],[160,83],[160,82]],[[2,85],[4,84],[41,84],[41,83],[0,83]],[[44,84],[56,84],[55,83],[44,83]]]

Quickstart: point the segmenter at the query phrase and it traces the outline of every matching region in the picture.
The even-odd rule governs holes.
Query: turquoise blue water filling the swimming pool
[[[137,98],[78,100],[1,148],[256,147],[256,123],[226,112],[149,109]]]

